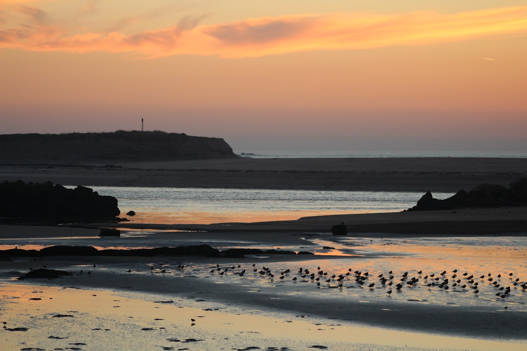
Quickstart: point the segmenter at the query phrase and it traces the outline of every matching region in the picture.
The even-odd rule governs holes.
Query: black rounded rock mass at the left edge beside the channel
[[[14,222],[107,222],[119,214],[115,197],[101,196],[83,186],[68,189],[51,182],[26,184],[22,180],[0,183],[0,217]]]

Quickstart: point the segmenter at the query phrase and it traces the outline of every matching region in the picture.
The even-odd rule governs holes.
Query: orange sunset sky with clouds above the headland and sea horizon
[[[525,0],[0,0],[0,134],[527,150]]]

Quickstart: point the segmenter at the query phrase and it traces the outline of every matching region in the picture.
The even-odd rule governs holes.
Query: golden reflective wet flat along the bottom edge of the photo
[[[523,350],[525,344],[398,332],[257,309],[197,308],[134,293],[8,284],[1,287],[2,349]],[[190,307],[189,307],[190,306]],[[231,309],[232,309],[231,308]],[[306,317],[306,318],[305,318]]]

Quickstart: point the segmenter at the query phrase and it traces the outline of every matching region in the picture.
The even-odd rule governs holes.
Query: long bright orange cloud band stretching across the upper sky
[[[37,8],[21,7],[19,12],[30,18],[31,24],[0,30],[0,48],[130,53],[144,58],[170,55],[243,58],[527,35],[527,6],[455,14],[308,14],[216,25],[200,25],[202,17],[187,16],[170,28],[135,34],[74,33],[47,24],[46,13]]]

